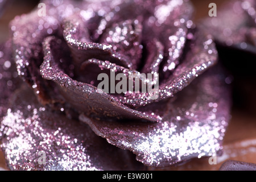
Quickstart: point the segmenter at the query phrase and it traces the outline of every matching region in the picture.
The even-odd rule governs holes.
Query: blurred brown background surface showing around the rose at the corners
[[[10,1],[10,0],[8,0]],[[39,1],[13,1],[11,5],[6,7],[5,12],[3,13],[2,17],[0,17],[0,43],[4,42],[9,38],[9,22],[11,19],[13,19],[16,15],[21,15],[24,13],[30,12],[32,9],[36,8],[36,5],[38,5]],[[221,7],[223,3],[226,1],[213,1],[213,0],[191,0],[193,5],[195,6],[195,18],[194,20],[198,21],[201,18],[204,18],[208,16],[208,5],[209,3],[216,3],[217,5],[217,15],[218,15],[218,9]],[[0,12],[1,14],[2,12]],[[245,78],[246,81],[246,78]],[[248,87],[246,89],[246,95],[247,97],[250,97],[250,94],[255,94],[255,86],[254,87]],[[1,94],[1,93],[0,93]],[[256,104],[251,101],[246,107],[233,107],[232,109],[232,120],[230,121],[230,125],[228,127],[228,130],[226,131],[226,136],[224,139],[224,145],[226,148],[229,148],[228,150],[233,147],[233,145],[236,145],[237,141],[245,140],[245,139],[251,139],[254,137],[256,138],[256,114],[255,114],[255,108]],[[241,158],[232,158],[232,159],[238,159],[242,160],[243,162],[254,162],[256,163],[256,147],[255,144],[253,145],[255,148],[254,152],[251,152],[250,155],[243,155]],[[225,147],[224,147],[225,148]],[[239,148],[239,147],[238,147]],[[236,148],[234,148],[236,150]],[[237,150],[245,150],[244,148],[240,148]],[[242,154],[242,153],[241,153]],[[208,160],[208,159],[206,159]],[[174,167],[174,168],[168,168],[172,170],[209,170],[209,169],[218,169],[220,167],[221,163],[219,163],[216,166],[209,166],[207,162],[205,162],[204,159],[198,160],[198,162],[194,163],[188,163],[186,165],[180,166],[180,167]],[[0,151],[0,168],[5,168],[5,160],[3,158],[3,155]]]

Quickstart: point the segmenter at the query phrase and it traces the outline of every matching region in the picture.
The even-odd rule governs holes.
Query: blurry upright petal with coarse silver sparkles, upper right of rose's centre
[[[159,40],[163,42],[164,52],[168,54],[167,60],[165,59],[163,64],[164,72],[173,71],[179,64],[188,28],[192,27],[190,20],[192,12],[191,3],[185,1],[169,1],[167,5],[159,5],[155,8],[155,23],[152,29],[159,36]]]

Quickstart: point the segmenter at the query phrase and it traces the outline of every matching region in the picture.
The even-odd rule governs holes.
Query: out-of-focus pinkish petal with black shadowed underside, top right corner
[[[222,63],[232,71],[234,80],[255,73],[255,22],[248,15],[253,15],[254,5],[250,2],[228,1],[218,10],[217,17],[203,20],[204,28],[213,35]]]

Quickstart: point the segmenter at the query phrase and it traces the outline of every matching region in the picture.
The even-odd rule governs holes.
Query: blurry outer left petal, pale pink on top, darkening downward
[[[43,60],[42,41],[45,36],[57,33],[58,20],[54,16],[39,17],[37,11],[34,11],[28,15],[17,16],[10,26],[19,75],[34,88],[40,101],[44,104],[50,103],[54,96],[49,93],[51,91],[46,80],[40,76],[39,67]]]

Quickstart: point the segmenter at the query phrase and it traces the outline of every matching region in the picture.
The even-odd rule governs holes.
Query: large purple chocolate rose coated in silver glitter
[[[17,154],[22,158],[18,163],[24,165],[23,168],[46,169],[23,162],[34,161],[36,152],[47,150],[52,156],[47,169],[53,166],[67,169],[63,165],[69,165],[68,162],[57,162],[60,160],[58,150],[67,141],[74,143],[75,138],[79,138],[81,144],[90,143],[94,134],[88,126],[114,146],[132,151],[146,166],[166,167],[213,153],[221,154],[229,120],[229,86],[220,65],[213,67],[218,55],[212,36],[191,20],[190,2],[43,3],[45,16],[36,9],[16,17],[10,24],[18,74],[34,89],[40,104],[47,109],[40,110],[36,101],[28,101],[26,97],[22,102],[20,94],[24,91],[15,96],[19,99],[13,100],[13,109],[7,112],[1,127],[2,148],[11,169],[16,169],[13,165],[18,161],[11,157],[15,152],[13,148],[22,147],[21,141],[29,148],[27,153],[23,150],[25,156]],[[138,81],[141,88],[144,83],[150,84],[154,93],[143,92],[141,88],[136,90],[134,85],[132,90],[122,93],[107,93],[108,88],[98,88],[101,73],[108,77],[119,73],[125,77],[151,74],[152,80],[139,77]],[[116,88],[119,81],[110,79],[109,89]],[[129,78],[125,83],[128,82]],[[136,79],[131,82],[135,84]],[[125,86],[123,84],[122,89]],[[152,96],[156,97],[152,99]],[[18,109],[16,102],[22,102]],[[20,114],[32,107],[37,108],[39,114]],[[58,121],[57,110],[65,113],[69,120]],[[46,114],[49,117],[45,117]],[[39,123],[31,125],[31,118]],[[74,119],[87,125],[80,126]],[[55,135],[53,131],[57,132],[57,126],[62,135],[69,137],[67,140]],[[43,130],[42,133],[39,130]],[[86,135],[82,135],[82,131]],[[33,148],[36,144],[40,150]],[[67,152],[65,160],[72,164],[75,163],[73,155],[90,154],[81,148],[77,154],[69,151],[77,146],[73,144],[63,150],[64,154]],[[89,146],[92,150],[103,150],[104,144],[90,143]],[[101,158],[101,155],[98,151],[89,156]],[[88,164],[93,165],[97,168],[98,164]],[[92,169],[89,167],[87,169]]]

